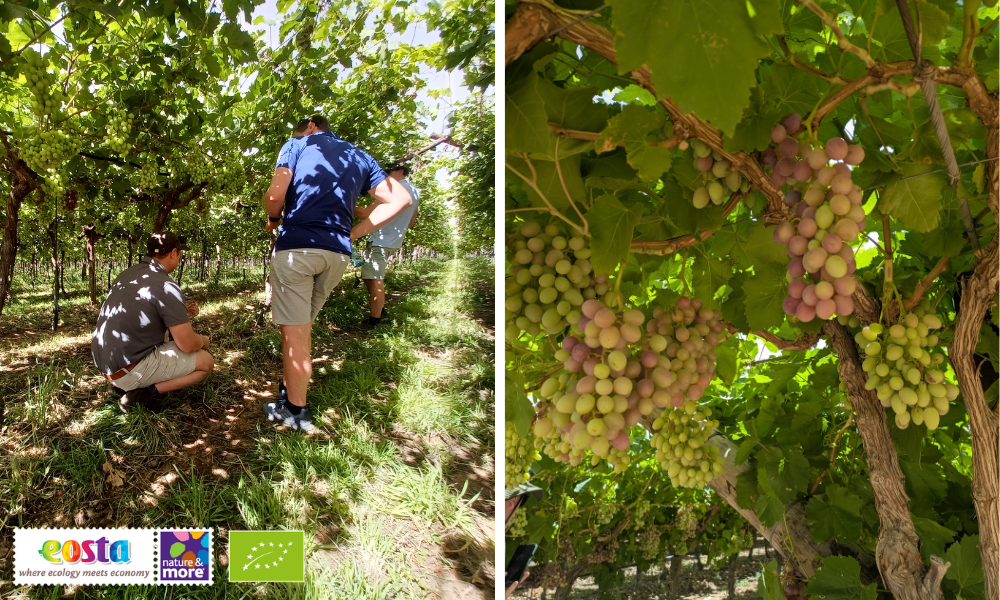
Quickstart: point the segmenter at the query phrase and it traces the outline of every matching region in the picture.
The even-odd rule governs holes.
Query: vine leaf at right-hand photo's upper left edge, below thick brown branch
[[[549,151],[548,115],[534,70],[504,69],[503,119],[505,152]]]

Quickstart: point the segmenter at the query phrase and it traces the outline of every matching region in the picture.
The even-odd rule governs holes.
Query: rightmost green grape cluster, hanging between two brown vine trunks
[[[872,323],[855,336],[866,358],[865,388],[875,390],[882,406],[892,408],[900,429],[924,424],[937,429],[958,386],[945,381],[947,358],[934,331],[942,326],[925,298],[899,323],[884,328]]]

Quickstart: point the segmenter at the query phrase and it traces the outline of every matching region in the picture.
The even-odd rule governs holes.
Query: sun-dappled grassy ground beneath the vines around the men
[[[492,315],[480,304],[494,272],[485,260],[404,265],[373,330],[358,328],[367,294],[348,275],[313,328],[311,436],[263,418],[281,345],[253,282],[184,286],[216,371],[160,415],[122,413],[107,392],[82,287],[58,337],[32,329],[49,309],[40,289],[19,293],[0,318],[0,597],[492,597],[495,341],[475,317]],[[108,461],[124,485],[107,482]],[[215,527],[216,584],[15,588],[11,529],[42,526]],[[306,583],[228,583],[231,529],[304,529]]]

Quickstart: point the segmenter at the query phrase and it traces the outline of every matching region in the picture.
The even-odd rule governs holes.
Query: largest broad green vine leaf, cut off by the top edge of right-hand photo
[[[757,84],[757,60],[770,53],[758,36],[781,32],[776,3],[755,2],[755,17],[742,0],[609,4],[619,73],[648,65],[659,97],[733,135]]]

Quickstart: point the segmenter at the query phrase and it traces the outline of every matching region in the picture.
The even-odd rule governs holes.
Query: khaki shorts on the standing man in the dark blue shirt
[[[277,325],[308,325],[344,276],[346,254],[301,248],[271,259],[271,315]]]

